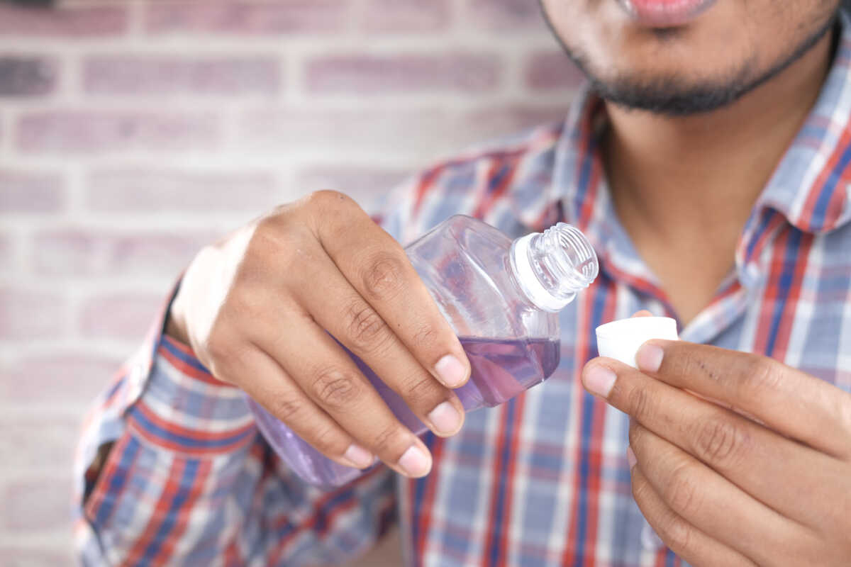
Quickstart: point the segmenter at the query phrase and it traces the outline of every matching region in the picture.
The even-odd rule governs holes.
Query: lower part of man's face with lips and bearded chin
[[[839,0],[541,0],[597,90],[682,115],[738,98],[831,28]]]

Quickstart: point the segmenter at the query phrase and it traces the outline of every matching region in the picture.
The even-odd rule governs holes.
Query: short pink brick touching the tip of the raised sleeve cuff
[[[87,298],[80,310],[79,328],[85,337],[141,342],[162,306],[162,294],[119,293]]]

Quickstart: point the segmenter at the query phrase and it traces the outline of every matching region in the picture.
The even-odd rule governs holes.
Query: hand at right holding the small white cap
[[[681,341],[645,343],[637,363],[591,360],[582,381],[631,416],[632,494],[674,553],[695,565],[851,564],[851,394]]]

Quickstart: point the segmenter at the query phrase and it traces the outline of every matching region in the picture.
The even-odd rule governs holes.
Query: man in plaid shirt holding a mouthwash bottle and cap
[[[590,79],[566,122],[426,171],[380,224],[319,192],[193,260],[87,426],[84,558],[334,564],[397,522],[417,565],[848,564],[851,20],[837,0],[542,5]],[[463,428],[469,363],[391,238],[453,213],[511,236],[563,220],[601,262],[557,373]],[[641,370],[591,360],[594,328],[640,309],[683,341]],[[386,467],[304,485],[242,391]]]

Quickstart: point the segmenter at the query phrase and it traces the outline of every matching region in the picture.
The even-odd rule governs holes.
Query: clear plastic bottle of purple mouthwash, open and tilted
[[[563,223],[511,241],[480,220],[456,215],[405,252],[470,360],[470,380],[454,390],[465,411],[511,400],[556,370],[558,311],[598,269],[585,236]],[[349,355],[399,421],[414,434],[426,432],[402,398]],[[333,488],[366,472],[328,459],[254,400],[248,405],[271,447],[311,485]]]

